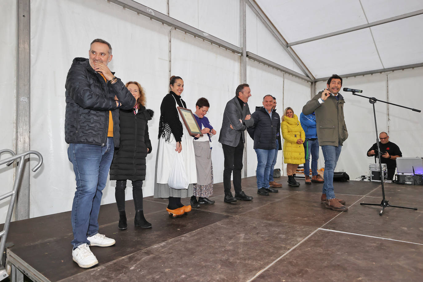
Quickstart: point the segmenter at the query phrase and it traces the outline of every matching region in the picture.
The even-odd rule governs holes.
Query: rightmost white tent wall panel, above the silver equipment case
[[[423,68],[387,74],[389,102],[423,110],[421,82]],[[389,140],[404,157],[423,157],[423,114],[389,105]]]

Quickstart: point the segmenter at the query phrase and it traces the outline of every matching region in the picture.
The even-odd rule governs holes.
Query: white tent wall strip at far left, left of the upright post
[[[0,2],[0,89],[2,103],[0,103],[0,150],[11,149],[16,151],[16,1],[5,0]],[[16,153],[16,152],[15,152]],[[22,152],[19,152],[22,153]],[[3,153],[1,159],[11,157],[9,153]],[[13,188],[14,165],[0,166],[0,195]],[[32,172],[30,172],[32,173]],[[10,197],[0,201],[0,222],[5,222]]]

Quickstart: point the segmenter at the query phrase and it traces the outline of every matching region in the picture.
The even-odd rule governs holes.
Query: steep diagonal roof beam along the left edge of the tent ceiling
[[[302,60],[298,57],[297,53],[291,48],[287,47],[288,42],[286,42],[285,38],[279,33],[277,28],[272,24],[272,22],[269,20],[269,18],[264,14],[264,12],[261,10],[260,6],[255,3],[254,0],[247,0],[248,6],[253,10],[254,14],[261,20],[261,22],[264,24],[264,26],[269,30],[269,32],[272,34],[273,37],[279,42],[280,46],[282,46],[283,49],[288,53],[288,55],[294,60],[294,62],[297,64],[297,66],[305,73],[307,76],[314,80],[313,74],[308,70],[307,66],[302,62]]]

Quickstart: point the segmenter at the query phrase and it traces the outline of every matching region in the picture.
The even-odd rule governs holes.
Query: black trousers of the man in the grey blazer
[[[233,172],[233,189],[235,193],[241,192],[241,170],[242,155],[244,153],[244,142],[242,136],[236,147],[222,144],[223,156],[225,156],[225,168],[223,170],[223,188],[225,195],[231,193],[231,173]]]

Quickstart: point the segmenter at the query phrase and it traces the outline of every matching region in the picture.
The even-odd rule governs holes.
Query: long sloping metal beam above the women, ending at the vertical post
[[[187,25],[183,22],[180,22],[176,19],[171,18],[170,16],[167,16],[165,14],[162,14],[156,10],[153,10],[151,8],[148,8],[147,6],[144,6],[140,3],[137,3],[132,0],[108,0],[108,2],[115,3],[116,5],[122,6],[125,9],[128,9],[130,11],[134,11],[140,15],[146,16],[150,19],[154,19],[157,22],[161,22],[163,24],[166,24],[168,26],[174,27],[177,30],[181,30],[183,32],[186,32],[188,34],[191,34],[192,36],[201,38],[205,41],[208,41],[212,44],[215,44],[219,47],[225,48],[227,50],[230,50],[232,52],[235,52],[237,54],[242,54],[242,49],[236,45],[233,45],[229,42],[226,42],[220,38],[214,37],[208,33],[205,33],[195,27],[192,27],[190,25]]]

